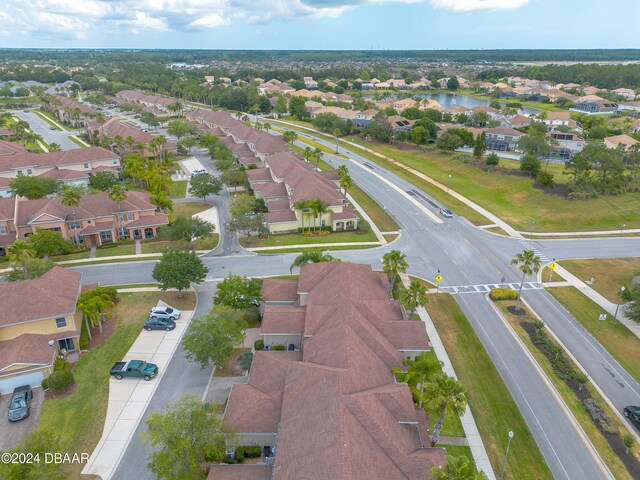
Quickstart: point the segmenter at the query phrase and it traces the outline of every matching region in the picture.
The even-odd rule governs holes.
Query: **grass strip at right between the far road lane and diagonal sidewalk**
[[[604,310],[576,288],[558,287],[547,291],[640,382],[640,338],[611,315],[607,315],[604,322],[598,320]]]

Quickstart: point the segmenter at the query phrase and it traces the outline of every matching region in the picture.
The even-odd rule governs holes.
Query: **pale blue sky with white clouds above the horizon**
[[[0,47],[640,48],[638,0],[3,0]]]

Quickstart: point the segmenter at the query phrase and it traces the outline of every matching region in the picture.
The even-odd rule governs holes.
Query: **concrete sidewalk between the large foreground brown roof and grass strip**
[[[409,276],[406,274],[401,274],[400,279],[405,287],[408,287],[411,283],[409,281]],[[447,355],[447,351],[444,348],[444,344],[440,339],[440,335],[438,335],[438,331],[436,330],[431,317],[427,313],[427,310],[424,307],[419,307],[416,310],[416,313],[420,316],[420,319],[425,324],[427,329],[427,335],[429,336],[429,342],[435,352],[438,360],[442,362],[442,371],[453,378],[456,377],[456,372],[453,370],[453,365],[451,364],[451,360]],[[471,409],[469,406],[465,409],[462,418],[460,418],[462,422],[462,428],[464,429],[464,434],[467,438],[467,442],[469,447],[471,448],[471,454],[473,455],[473,460],[476,463],[476,468],[478,470],[484,471],[489,480],[495,480],[496,476],[493,472],[493,467],[491,467],[491,462],[489,461],[489,455],[487,454],[487,450],[484,448],[484,443],[482,443],[482,437],[480,437],[480,432],[478,431],[478,426],[476,425],[476,421],[473,418],[473,413],[471,413]]]

